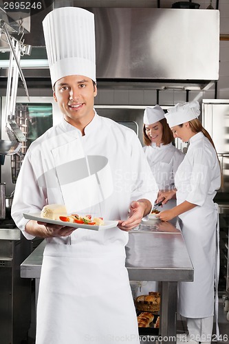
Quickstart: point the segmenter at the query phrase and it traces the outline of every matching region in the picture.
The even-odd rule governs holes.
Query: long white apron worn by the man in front
[[[115,230],[119,230],[115,228]],[[86,232],[86,230],[85,230]],[[124,247],[47,244],[36,344],[139,344]]]

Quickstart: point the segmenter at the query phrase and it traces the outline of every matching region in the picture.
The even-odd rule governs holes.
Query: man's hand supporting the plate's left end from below
[[[57,224],[47,224],[30,220],[25,226],[25,232],[36,237],[68,237],[77,228],[60,226]]]

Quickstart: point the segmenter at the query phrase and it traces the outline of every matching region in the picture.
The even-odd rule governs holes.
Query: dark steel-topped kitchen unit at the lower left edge
[[[31,253],[31,241],[15,224],[0,224],[0,334],[1,344],[28,343],[31,321],[30,279],[21,279],[20,264]]]

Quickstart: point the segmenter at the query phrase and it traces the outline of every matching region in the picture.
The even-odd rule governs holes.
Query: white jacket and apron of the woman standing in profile
[[[194,281],[179,283],[179,312],[187,318],[214,314],[217,208],[212,201],[221,185],[217,153],[199,132],[190,138],[188,152],[177,169],[177,204],[185,200],[195,208],[179,215]]]

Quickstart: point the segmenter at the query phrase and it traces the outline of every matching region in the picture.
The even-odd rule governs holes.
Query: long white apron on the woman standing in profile
[[[212,200],[179,215],[194,267],[194,281],[179,283],[179,312],[186,318],[214,315],[217,209]]]

